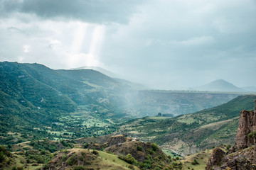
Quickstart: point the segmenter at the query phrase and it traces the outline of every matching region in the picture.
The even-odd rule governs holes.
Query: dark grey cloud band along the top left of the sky
[[[41,18],[70,18],[92,23],[127,23],[142,0],[2,0],[3,15],[34,13]]]

